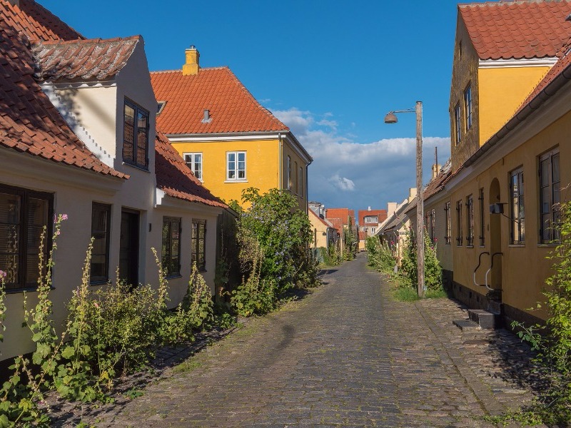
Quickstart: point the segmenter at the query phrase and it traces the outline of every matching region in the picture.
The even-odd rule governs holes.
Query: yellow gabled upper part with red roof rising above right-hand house
[[[513,116],[557,61],[571,33],[564,20],[570,13],[566,0],[458,5],[450,88],[453,168]]]

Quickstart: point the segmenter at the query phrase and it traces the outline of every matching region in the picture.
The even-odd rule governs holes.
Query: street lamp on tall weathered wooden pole
[[[418,296],[424,297],[423,102],[416,101],[415,108],[389,111],[385,123],[397,123],[395,113],[416,113],[416,258]]]

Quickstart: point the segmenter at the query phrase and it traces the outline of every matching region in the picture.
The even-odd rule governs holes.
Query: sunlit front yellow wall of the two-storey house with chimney
[[[255,187],[262,192],[278,187],[278,141],[208,141],[173,143],[178,153],[202,153],[203,183],[218,198],[241,203],[242,190]],[[246,180],[226,180],[226,153],[246,151]]]

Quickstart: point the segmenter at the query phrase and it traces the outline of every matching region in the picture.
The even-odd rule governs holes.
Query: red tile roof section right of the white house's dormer
[[[157,130],[155,141],[156,187],[168,196],[214,207],[228,208],[205,188],[171,146],[168,138]]]

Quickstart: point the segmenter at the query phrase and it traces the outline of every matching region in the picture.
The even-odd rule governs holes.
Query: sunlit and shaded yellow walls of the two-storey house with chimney
[[[208,190],[230,202],[241,203],[242,190],[258,188],[265,193],[271,188],[288,188],[288,156],[292,165],[291,193],[296,196],[300,209],[307,210],[307,165],[293,150],[287,139],[281,141],[241,140],[241,141],[206,141],[175,142],[176,151],[183,153],[202,153],[202,179]],[[226,153],[246,151],[246,180],[226,180]],[[281,168],[278,165],[281,163]],[[295,168],[297,165],[297,169]],[[301,168],[301,173],[299,168]],[[300,189],[298,191],[298,174]]]

